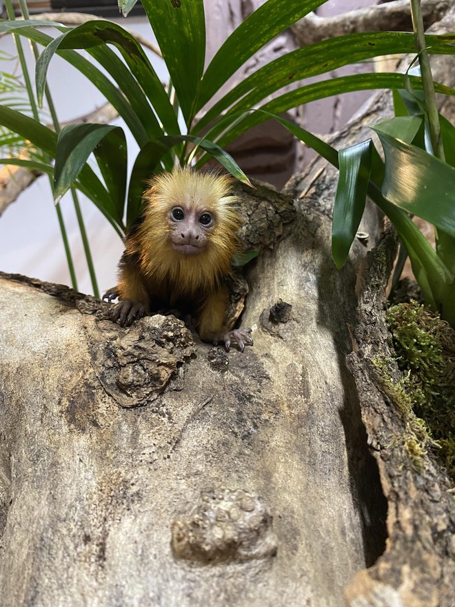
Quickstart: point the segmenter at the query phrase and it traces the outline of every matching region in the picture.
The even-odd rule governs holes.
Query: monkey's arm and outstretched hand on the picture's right
[[[245,343],[253,345],[250,337],[250,328],[228,330],[225,326],[225,311],[228,307],[228,289],[223,287],[214,291],[205,299],[199,313],[198,333],[202,341],[212,341],[215,345],[224,342],[226,351],[229,351],[232,341],[238,344],[241,352],[245,350]]]

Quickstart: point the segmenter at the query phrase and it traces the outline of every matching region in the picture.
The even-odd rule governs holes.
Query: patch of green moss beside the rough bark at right
[[[425,421],[455,477],[455,331],[412,300],[392,306],[387,322],[411,408]]]

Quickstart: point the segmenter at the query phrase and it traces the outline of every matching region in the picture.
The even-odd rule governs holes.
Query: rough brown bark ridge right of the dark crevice
[[[347,357],[387,497],[387,550],[372,568],[356,574],[346,595],[353,607],[448,607],[455,592],[451,486],[434,454],[421,447],[412,415],[395,401],[394,390],[387,390],[387,384],[398,385],[401,379],[378,305],[384,298],[384,266],[390,267],[390,238],[369,260],[369,288],[359,300],[353,351]]]

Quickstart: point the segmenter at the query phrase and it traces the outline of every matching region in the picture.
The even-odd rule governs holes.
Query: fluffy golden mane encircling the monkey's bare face
[[[145,192],[143,223],[137,239],[143,274],[159,283],[171,283],[177,295],[214,290],[230,272],[232,257],[239,249],[236,232],[240,219],[230,195],[228,175],[174,168],[158,175]],[[170,245],[170,209],[185,205],[212,213],[215,223],[208,246],[196,257],[177,254]]]

